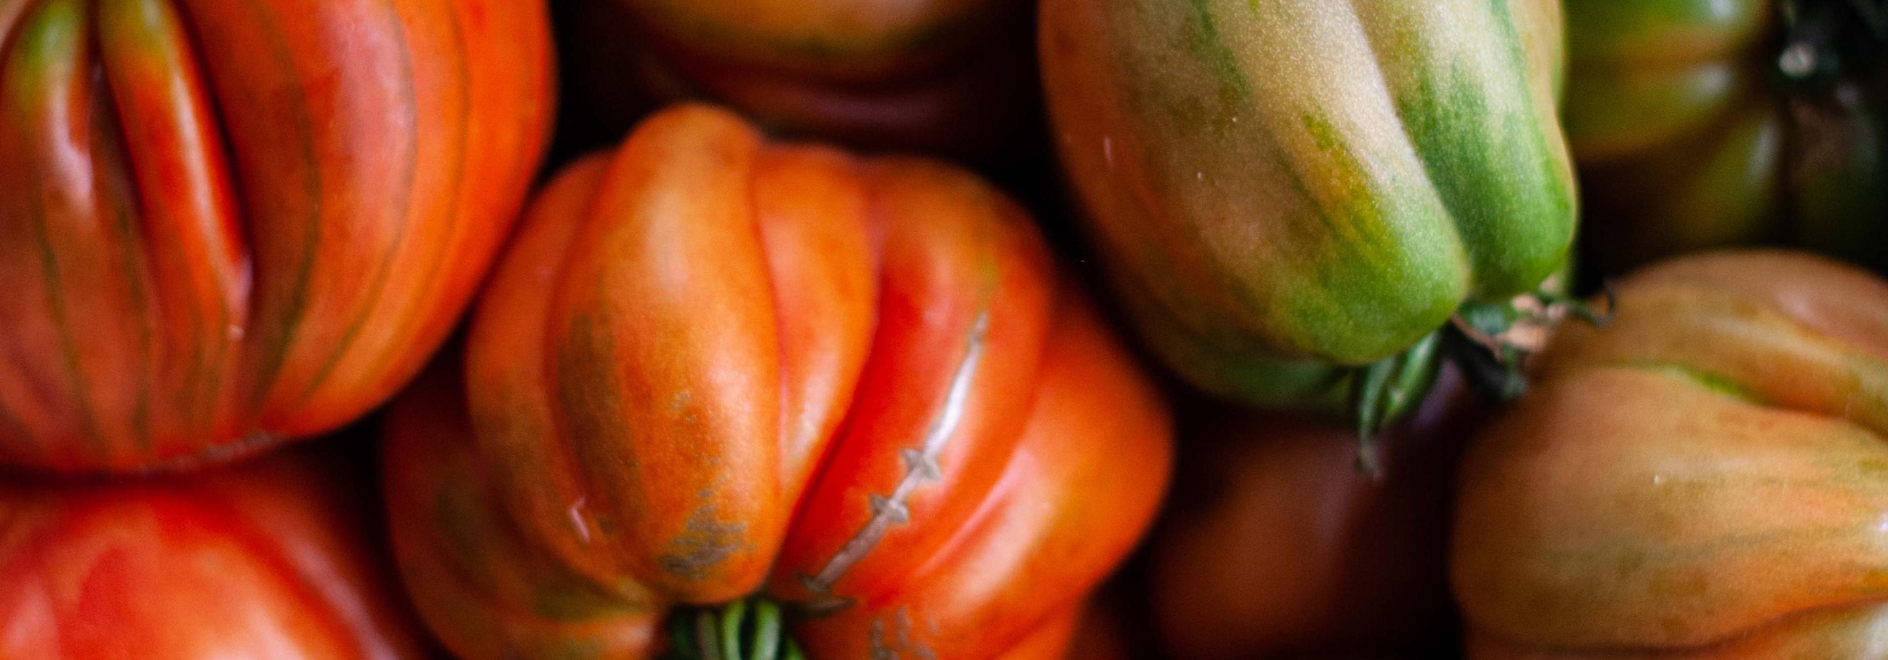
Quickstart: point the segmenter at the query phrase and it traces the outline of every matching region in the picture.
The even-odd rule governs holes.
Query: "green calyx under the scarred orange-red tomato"
[[[678,609],[668,617],[668,660],[806,660],[785,611],[767,596]]]

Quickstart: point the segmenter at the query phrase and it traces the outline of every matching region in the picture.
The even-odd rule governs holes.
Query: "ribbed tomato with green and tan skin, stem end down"
[[[1550,0],[1046,0],[1038,45],[1142,339],[1210,392],[1335,409],[1565,262],[1559,32]]]

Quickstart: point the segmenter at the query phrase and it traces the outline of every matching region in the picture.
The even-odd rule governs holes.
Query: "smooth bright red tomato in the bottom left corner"
[[[359,466],[293,451],[164,481],[0,483],[4,658],[423,658]]]

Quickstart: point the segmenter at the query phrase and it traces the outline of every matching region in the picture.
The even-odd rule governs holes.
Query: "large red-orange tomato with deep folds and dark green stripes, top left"
[[[517,0],[0,0],[0,466],[342,426],[457,322],[549,132]]]

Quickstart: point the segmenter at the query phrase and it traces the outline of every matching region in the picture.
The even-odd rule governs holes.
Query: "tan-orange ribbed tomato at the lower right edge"
[[[1888,283],[1777,251],[1643,270],[1461,470],[1471,658],[1877,658]]]

